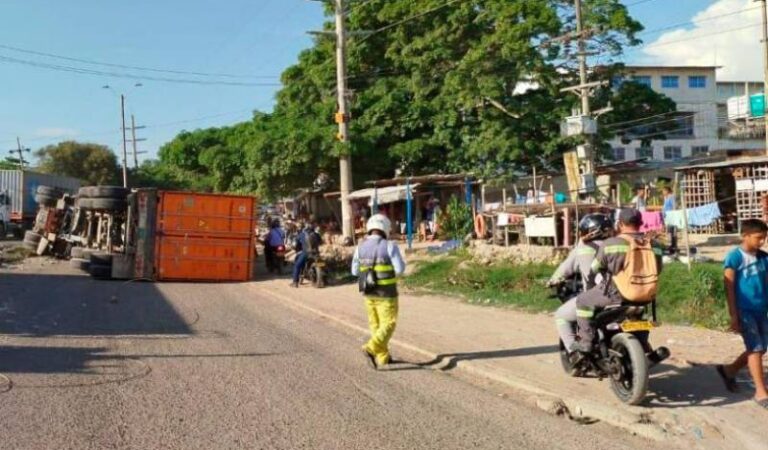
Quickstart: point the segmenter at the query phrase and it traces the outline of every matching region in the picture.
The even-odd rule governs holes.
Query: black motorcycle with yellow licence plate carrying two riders
[[[582,290],[581,279],[552,286],[562,303]],[[611,390],[624,403],[638,405],[648,391],[650,367],[670,356],[669,349],[654,350],[648,338],[656,323],[656,301],[648,304],[624,302],[599,310],[594,319],[595,340],[589,354],[568,353],[560,340],[560,362],[570,376],[608,378]],[[573,324],[574,329],[576,324]]]

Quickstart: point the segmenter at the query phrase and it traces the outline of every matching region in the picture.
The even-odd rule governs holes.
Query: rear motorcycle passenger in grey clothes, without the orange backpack
[[[645,234],[640,232],[642,224],[643,218],[640,211],[634,208],[620,210],[619,236],[606,239],[603,245],[598,248],[597,255],[592,262],[592,271],[601,273],[603,279],[593,288],[581,293],[576,300],[579,339],[571,347],[572,350],[590,353],[595,333],[592,324],[595,309],[622,303],[623,297],[614,283],[613,277],[625,270],[624,263],[631,244],[629,239],[634,239],[638,244],[647,244]],[[662,267],[662,249],[654,242],[651,242],[651,249],[655,255],[656,271],[659,274]],[[646,352],[648,350],[646,349]]]

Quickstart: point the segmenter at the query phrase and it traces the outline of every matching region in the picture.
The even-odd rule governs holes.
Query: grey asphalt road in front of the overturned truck
[[[0,271],[0,448],[654,447],[481,380],[374,372],[361,336],[256,291]]]

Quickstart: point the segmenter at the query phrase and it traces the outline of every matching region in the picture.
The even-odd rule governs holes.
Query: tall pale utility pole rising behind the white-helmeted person
[[[346,144],[349,139],[349,112],[347,110],[347,61],[346,61],[346,32],[344,29],[344,0],[336,1],[336,91],[339,111],[336,121],[339,124],[339,141]],[[348,149],[344,148],[339,156],[340,187],[341,187],[341,223],[342,235],[345,239],[354,239],[352,224],[352,205],[349,194],[352,190],[352,159]]]

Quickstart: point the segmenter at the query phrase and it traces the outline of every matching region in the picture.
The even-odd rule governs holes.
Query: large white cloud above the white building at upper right
[[[666,32],[655,41],[646,39],[642,63],[717,65],[722,66],[720,80],[763,79],[760,3],[717,0],[697,13],[692,22],[692,26]]]

